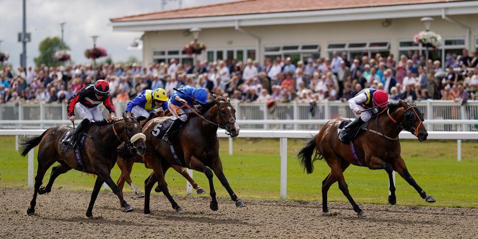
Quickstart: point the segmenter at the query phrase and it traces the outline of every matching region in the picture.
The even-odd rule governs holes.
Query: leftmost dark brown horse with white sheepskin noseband
[[[76,162],[74,150],[70,149],[62,152],[60,141],[66,131],[71,127],[66,125],[55,126],[49,128],[38,137],[24,138],[21,142],[21,153],[25,156],[28,151],[36,145],[40,145],[38,149],[38,169],[35,176],[35,188],[33,199],[30,207],[27,209],[28,215],[35,212],[37,194],[44,194],[51,191],[51,187],[55,179],[70,169],[83,171],[89,174],[97,175],[95,187],[91,195],[90,205],[86,215],[93,216],[93,205],[100,192],[103,182],[108,184],[114,194],[118,196],[125,212],[130,212],[133,208],[126,203],[123,196],[119,193],[118,187],[110,177],[110,171],[116,162],[116,148],[125,142],[140,155],[144,154],[146,145],[144,143],[145,136],[141,133],[141,127],[134,118],[119,119],[115,122],[100,121],[95,122],[86,132],[84,149],[81,150],[81,158],[83,167]],[[50,180],[46,187],[40,188],[46,171],[55,162],[60,165],[53,167],[50,174]]]

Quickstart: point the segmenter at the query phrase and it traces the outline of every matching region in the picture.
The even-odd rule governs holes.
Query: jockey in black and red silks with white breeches
[[[73,97],[68,100],[67,114],[70,121],[74,122],[74,110],[84,120],[78,124],[73,135],[71,135],[70,146],[74,146],[78,135],[90,124],[91,121],[104,120],[98,105],[103,103],[109,112],[108,120],[116,120],[115,107],[110,98],[110,85],[108,82],[100,79],[95,84],[89,84],[79,90]]]

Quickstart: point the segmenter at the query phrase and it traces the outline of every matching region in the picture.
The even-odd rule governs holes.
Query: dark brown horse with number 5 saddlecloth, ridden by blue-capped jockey
[[[222,97],[211,97],[209,102],[202,107],[201,112],[192,115],[184,126],[173,138],[173,145],[179,157],[176,161],[170,145],[149,132],[167,118],[155,118],[148,122],[143,132],[146,134],[147,150],[143,156],[144,163],[153,169],[153,173],[146,179],[144,186],[144,213],[151,213],[149,210],[149,195],[155,182],[158,182],[159,189],[171,202],[176,213],[182,213],[181,207],[174,201],[168,191],[165,181],[166,171],[172,165],[179,165],[192,170],[202,172],[209,181],[211,210],[218,209],[216,191],[212,182],[213,172],[221,182],[222,186],[229,193],[236,207],[244,207],[244,203],[237,198],[222,172],[222,162],[219,157],[219,140],[217,139],[217,128],[225,129],[231,137],[239,134],[239,126],[235,122],[235,110],[228,99]]]

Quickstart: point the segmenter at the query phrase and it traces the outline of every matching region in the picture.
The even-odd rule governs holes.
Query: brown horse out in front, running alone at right
[[[412,132],[419,141],[425,141],[428,133],[423,125],[423,114],[415,104],[405,101],[388,103],[387,108],[371,119],[368,132],[354,139],[356,154],[351,146],[342,143],[338,138],[338,127],[343,119],[333,119],[327,122],[321,131],[309,140],[298,152],[297,158],[307,174],[313,171],[313,162],[324,158],[331,168],[329,175],[322,181],[322,214],[330,215],[327,208],[327,192],[332,184],[339,182],[339,189],[352,204],[358,217],[365,217],[364,212],[350,196],[343,172],[349,165],[368,167],[372,170],[383,169],[388,174],[390,182],[388,202],[396,203],[395,186],[392,172],[396,171],[417,190],[426,202],[435,199],[425,193],[415,182],[407,170],[404,159],[400,155],[399,133],[402,129]],[[315,154],[314,154],[315,152]],[[313,157],[312,157],[312,154]]]

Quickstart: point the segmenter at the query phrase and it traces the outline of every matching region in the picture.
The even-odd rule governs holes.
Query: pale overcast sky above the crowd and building
[[[183,8],[229,2],[230,0],[183,0]],[[167,0],[166,10],[178,8],[178,0]],[[113,32],[109,18],[161,11],[160,0],[27,0],[27,32],[32,41],[27,44],[27,65],[34,65],[38,44],[46,37],[60,37],[59,22],[67,22],[64,41],[71,48],[72,60],[89,62],[84,56],[93,47],[90,36],[100,35],[98,46],[105,47],[113,61],[129,56],[141,59],[140,50],[126,50],[141,33]],[[0,0],[0,49],[10,53],[9,62],[20,65],[22,44],[17,34],[22,31],[22,1]]]

